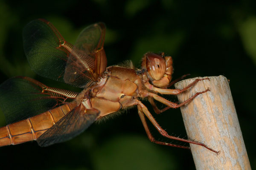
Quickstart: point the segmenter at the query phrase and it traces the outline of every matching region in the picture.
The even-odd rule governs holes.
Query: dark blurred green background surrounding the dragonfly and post
[[[105,22],[108,65],[131,59],[139,66],[146,52],[164,51],[174,59],[174,78],[190,73],[190,78],[224,75],[230,79],[250,164],[256,169],[255,1],[0,1],[0,82],[22,75],[74,90],[43,79],[29,68],[22,29],[36,18],[51,21],[71,43],[85,26]],[[0,125],[6,125],[3,113],[0,115]],[[179,109],[155,118],[170,134],[186,137]],[[154,127],[151,130],[156,139],[169,142]],[[189,150],[160,146],[147,139],[136,109],[94,124],[61,144],[39,147],[36,142],[27,142],[1,147],[0,164],[9,169],[195,169]]]

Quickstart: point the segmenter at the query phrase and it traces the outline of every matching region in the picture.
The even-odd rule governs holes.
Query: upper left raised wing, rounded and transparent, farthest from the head
[[[38,75],[64,82],[71,44],[47,20],[33,20],[23,29],[23,46],[29,65]]]

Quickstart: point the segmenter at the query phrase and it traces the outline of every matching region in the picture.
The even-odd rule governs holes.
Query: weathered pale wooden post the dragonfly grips
[[[175,88],[182,89],[197,78],[177,82]],[[183,102],[196,92],[210,90],[180,108],[188,138],[220,151],[217,155],[205,147],[190,144],[195,167],[197,170],[250,170],[227,78],[208,78],[177,95],[179,102]]]

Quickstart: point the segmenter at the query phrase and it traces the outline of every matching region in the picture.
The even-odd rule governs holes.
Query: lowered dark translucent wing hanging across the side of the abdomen
[[[37,142],[39,146],[45,147],[72,139],[95,122],[97,116],[99,116],[98,110],[87,110],[84,113],[80,105],[67,113],[55,125],[43,133],[37,139]]]

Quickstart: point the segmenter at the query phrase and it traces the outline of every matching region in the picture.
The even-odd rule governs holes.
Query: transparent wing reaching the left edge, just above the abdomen
[[[10,124],[70,102],[76,95],[75,92],[49,88],[29,77],[15,77],[0,85],[0,108]]]

